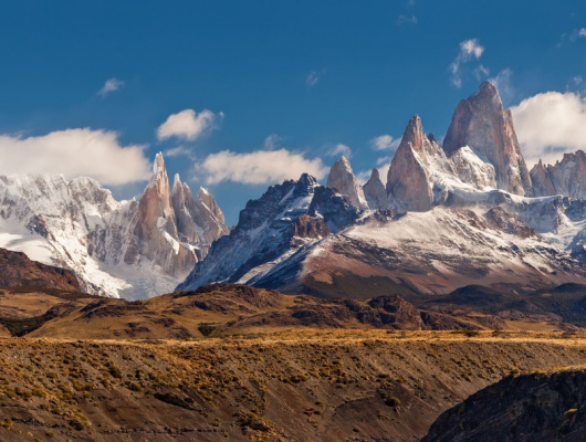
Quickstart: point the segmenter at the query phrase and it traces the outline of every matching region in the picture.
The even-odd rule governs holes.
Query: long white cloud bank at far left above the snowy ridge
[[[38,137],[0,135],[0,173],[63,173],[119,186],[150,176],[144,146],[121,146],[113,131],[56,130]]]

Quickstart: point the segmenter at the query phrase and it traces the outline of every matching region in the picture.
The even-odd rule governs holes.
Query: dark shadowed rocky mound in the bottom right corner
[[[421,442],[584,441],[586,372],[510,376],[446,411]]]

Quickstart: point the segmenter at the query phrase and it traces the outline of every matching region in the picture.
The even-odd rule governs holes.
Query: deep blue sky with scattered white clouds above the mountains
[[[129,197],[160,150],[229,223],[342,152],[386,176],[415,113],[441,138],[489,78],[527,157],[586,147],[583,1],[19,0],[0,7],[0,42],[1,172],[90,175]],[[542,136],[552,107],[564,130]]]

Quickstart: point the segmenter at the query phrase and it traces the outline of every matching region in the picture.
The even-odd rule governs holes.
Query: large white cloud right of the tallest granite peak
[[[546,92],[511,108],[527,165],[553,164],[564,152],[586,149],[586,97]]]

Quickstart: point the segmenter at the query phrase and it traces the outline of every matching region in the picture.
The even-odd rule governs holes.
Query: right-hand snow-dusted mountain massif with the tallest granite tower
[[[548,177],[582,170],[571,159]],[[443,146],[410,119],[386,185],[375,170],[360,189],[342,158],[326,187],[304,175],[249,201],[178,290],[239,282],[373,296],[586,283],[586,203],[577,190],[556,194],[568,191],[565,178],[550,178],[551,193],[534,190],[533,175],[511,113],[484,83],[458,105]]]

